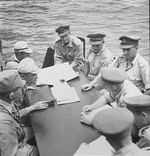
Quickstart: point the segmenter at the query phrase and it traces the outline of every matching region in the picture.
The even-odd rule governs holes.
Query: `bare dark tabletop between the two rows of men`
[[[30,115],[40,156],[71,156],[81,143],[90,143],[99,137],[92,126],[80,122],[83,106],[92,104],[100,97],[95,88],[83,92],[81,85],[85,83],[89,81],[82,73],[68,82],[76,89],[80,102],[55,104]]]

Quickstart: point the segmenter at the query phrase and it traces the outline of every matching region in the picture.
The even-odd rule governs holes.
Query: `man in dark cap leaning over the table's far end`
[[[59,38],[55,42],[55,64],[69,62],[72,67],[83,68],[83,46],[80,39],[70,35],[69,26],[56,29]]]

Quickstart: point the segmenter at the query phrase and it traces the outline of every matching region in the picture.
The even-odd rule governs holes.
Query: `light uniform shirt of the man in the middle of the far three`
[[[112,53],[103,45],[98,54],[91,48],[87,53],[86,59],[89,62],[89,74],[87,78],[92,81],[100,72],[101,68],[108,66],[113,61]]]

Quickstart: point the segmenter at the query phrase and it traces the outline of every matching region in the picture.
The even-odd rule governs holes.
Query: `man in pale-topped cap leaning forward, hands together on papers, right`
[[[126,107],[123,99],[125,97],[131,97],[136,95],[142,95],[140,90],[129,80],[127,80],[127,74],[125,71],[104,67],[101,69],[101,77],[98,79],[98,83],[103,83],[104,88],[107,90],[97,101],[91,105],[85,105],[83,107],[83,113],[81,114],[81,122],[91,124],[91,118],[88,116],[88,112],[91,112],[99,107],[115,102],[117,107]]]

